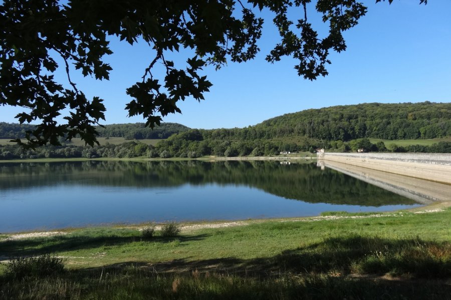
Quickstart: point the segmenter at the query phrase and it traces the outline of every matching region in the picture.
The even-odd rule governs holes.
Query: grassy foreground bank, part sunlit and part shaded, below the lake
[[[445,299],[451,209],[360,218],[246,221],[143,238],[136,228],[68,229],[0,241],[0,255],[54,253],[66,271],[0,273],[0,295],[89,299]],[[334,219],[337,215],[341,218]],[[318,219],[318,218],[316,218]]]

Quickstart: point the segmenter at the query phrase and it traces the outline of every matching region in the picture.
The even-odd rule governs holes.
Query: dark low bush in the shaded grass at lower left
[[[5,274],[15,278],[43,277],[64,271],[63,258],[43,254],[36,257],[15,257],[7,264]]]

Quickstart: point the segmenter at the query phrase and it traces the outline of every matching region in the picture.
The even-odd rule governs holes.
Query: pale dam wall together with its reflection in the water
[[[451,154],[319,152],[318,166],[423,204],[451,201]]]

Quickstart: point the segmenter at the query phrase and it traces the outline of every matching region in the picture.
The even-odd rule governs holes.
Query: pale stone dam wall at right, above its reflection
[[[451,154],[448,153],[318,152],[318,160],[335,161],[451,185]]]

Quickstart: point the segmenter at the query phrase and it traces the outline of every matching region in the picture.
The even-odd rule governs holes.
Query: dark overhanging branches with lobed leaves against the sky
[[[108,79],[112,70],[104,62],[111,54],[109,40],[149,45],[149,63],[137,82],[127,88],[132,98],[128,114],[142,115],[153,127],[168,113],[180,112],[177,101],[203,99],[211,83],[200,72],[206,65],[220,68],[228,61],[243,62],[259,51],[257,41],[264,8],[271,10],[280,41],[268,54],[275,62],[293,56],[300,76],[315,79],[327,74],[331,50],[346,49],[342,32],[355,26],[366,7],[356,0],[5,0],[0,5],[0,103],[31,112],[17,115],[21,123],[40,121],[26,134],[27,145],[58,144],[79,134],[88,144],[96,142],[96,128],[105,106],[95,96],[88,99],[71,80],[71,65],[85,76]],[[390,1],[391,2],[391,1]],[[424,2],[423,0],[420,2]],[[288,17],[299,7],[297,20]],[[308,18],[316,10],[329,25],[327,36],[318,36]],[[193,54],[185,65],[165,57],[182,48]],[[57,61],[63,61],[59,65]],[[164,77],[154,75],[156,63]],[[58,67],[67,81],[57,82]],[[70,113],[58,123],[63,109]],[[20,139],[17,140],[22,143]]]

